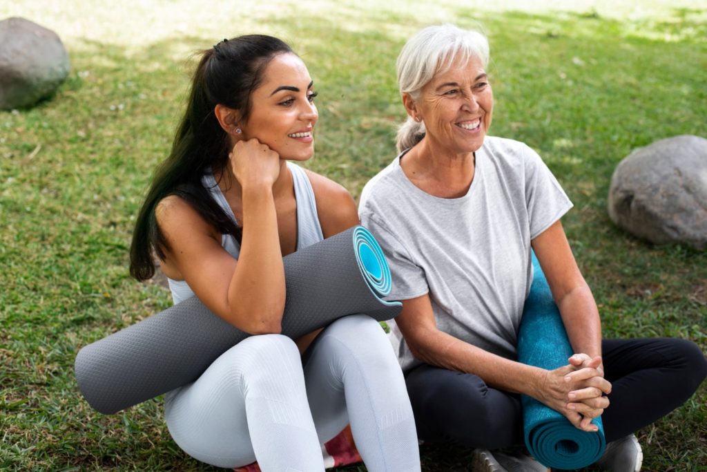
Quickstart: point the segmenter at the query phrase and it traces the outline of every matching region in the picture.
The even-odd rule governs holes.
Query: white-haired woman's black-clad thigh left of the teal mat
[[[418,437],[496,449],[522,442],[520,396],[473,374],[423,364],[406,376]]]

